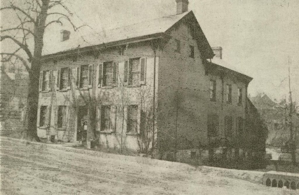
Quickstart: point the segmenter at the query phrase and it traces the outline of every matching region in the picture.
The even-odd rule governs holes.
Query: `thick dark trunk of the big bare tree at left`
[[[42,57],[43,37],[45,32],[45,22],[47,18],[47,11],[50,0],[42,1],[42,8],[40,14],[36,18],[36,25],[34,28],[34,53],[31,62],[31,70],[29,71],[29,91],[28,91],[28,123],[27,136],[28,139],[35,139],[39,141],[37,136],[37,108],[39,101],[39,72]]]

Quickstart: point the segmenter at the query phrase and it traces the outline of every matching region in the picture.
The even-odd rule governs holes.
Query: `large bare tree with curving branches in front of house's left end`
[[[9,11],[15,13],[19,21],[16,21],[16,26],[1,30],[0,41],[10,40],[16,44],[16,50],[11,53],[1,53],[9,60],[12,56],[18,56],[17,52],[24,51],[28,57],[28,62],[31,63],[29,71],[29,91],[28,91],[28,123],[27,137],[28,139],[39,140],[37,137],[36,121],[37,121],[37,106],[39,99],[39,72],[42,64],[42,48],[45,29],[53,23],[63,25],[62,19],[66,19],[73,26],[69,16],[72,16],[70,10],[62,3],[62,1],[53,0],[24,0],[24,4],[11,1],[5,7],[1,7],[1,11]],[[22,7],[18,6],[21,5]],[[55,12],[56,8],[63,8],[67,14]],[[50,21],[49,21],[50,20]],[[48,22],[49,21],[49,22]],[[22,37],[16,37],[22,31]],[[16,33],[14,35],[14,33]],[[30,51],[27,40],[33,39],[33,51]],[[23,59],[24,60],[24,59]],[[26,62],[24,60],[24,62]],[[27,63],[25,63],[27,64]]]

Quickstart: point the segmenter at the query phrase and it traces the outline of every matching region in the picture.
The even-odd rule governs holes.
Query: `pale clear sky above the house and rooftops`
[[[62,2],[73,13],[75,25],[88,24],[93,32],[176,13],[175,0]],[[189,2],[189,10],[193,10],[210,45],[221,46],[223,60],[253,77],[248,86],[251,96],[265,92],[272,99],[288,98],[290,67],[293,99],[299,101],[298,0]],[[6,20],[2,16],[2,24]],[[53,33],[51,29],[48,32]]]

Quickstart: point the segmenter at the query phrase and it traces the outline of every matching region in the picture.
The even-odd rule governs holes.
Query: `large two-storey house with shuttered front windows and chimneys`
[[[252,78],[213,63],[213,49],[187,9],[187,0],[177,0],[176,15],[89,41],[64,30],[60,47],[45,44],[39,137],[140,152],[154,139],[157,158],[175,153],[177,161],[204,153],[213,160],[212,144],[221,139],[238,143],[225,156],[263,153],[254,140],[241,143],[253,132],[246,128]]]

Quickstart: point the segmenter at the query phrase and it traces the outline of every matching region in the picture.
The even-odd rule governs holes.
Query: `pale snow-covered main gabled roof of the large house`
[[[152,20],[142,21],[134,23],[132,25],[121,26],[119,28],[108,29],[101,32],[83,32],[78,30],[77,32],[71,32],[70,39],[61,42],[60,39],[44,39],[44,47],[42,51],[43,56],[50,57],[51,54],[64,53],[66,51],[75,50],[77,48],[86,48],[92,46],[109,46],[112,43],[120,41],[129,41],[131,39],[153,39],[161,37],[167,30],[173,25],[179,22],[183,18],[191,17],[196,21],[196,30],[201,36],[204,36],[193,11],[185,12],[178,15],[164,16]],[[194,20],[193,20],[194,21]],[[204,42],[204,47],[208,50],[210,55],[213,55],[212,49],[204,36],[201,40]],[[201,43],[202,44],[202,43]],[[53,56],[53,55],[52,55]]]

